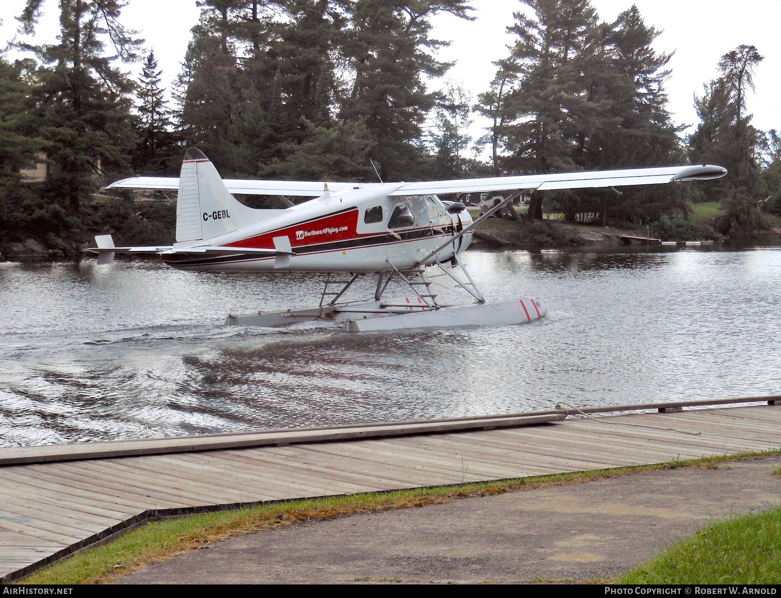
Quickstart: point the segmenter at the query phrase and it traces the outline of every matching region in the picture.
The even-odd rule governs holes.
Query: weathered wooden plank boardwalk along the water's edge
[[[733,408],[704,404],[754,401]],[[762,400],[764,404],[757,404]],[[150,519],[781,448],[781,397],[0,449],[0,582]],[[683,409],[685,407],[685,409]],[[678,411],[683,409],[683,411]]]

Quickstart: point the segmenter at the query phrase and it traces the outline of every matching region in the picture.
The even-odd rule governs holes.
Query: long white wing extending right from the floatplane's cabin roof
[[[391,195],[472,193],[478,191],[590,189],[658,185],[676,180],[712,180],[726,175],[722,166],[662,166],[624,170],[584,170],[580,173],[495,176],[483,179],[431,180],[406,183]]]

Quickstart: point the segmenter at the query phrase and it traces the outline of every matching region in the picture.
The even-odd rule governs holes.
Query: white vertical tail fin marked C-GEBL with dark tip
[[[196,148],[184,155],[177,198],[177,241],[206,240],[236,230],[244,205],[225,188],[217,169]]]

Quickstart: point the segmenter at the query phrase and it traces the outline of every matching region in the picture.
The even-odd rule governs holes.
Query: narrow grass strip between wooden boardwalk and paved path
[[[80,550],[62,561],[36,571],[22,580],[34,584],[74,584],[111,582],[118,575],[155,562],[198,550],[230,536],[275,529],[298,521],[316,521],[348,514],[386,511],[406,507],[442,504],[465,497],[484,497],[523,489],[590,482],[638,472],[654,472],[674,468],[712,468],[727,461],[767,457],[781,450],[761,453],[740,453],[703,457],[690,461],[669,461],[658,465],[613,468],[589,472],[542,475],[530,478],[436,486],[386,493],[362,493],[313,500],[292,500],[262,504],[237,511],[156,521],[134,529],[104,546]]]

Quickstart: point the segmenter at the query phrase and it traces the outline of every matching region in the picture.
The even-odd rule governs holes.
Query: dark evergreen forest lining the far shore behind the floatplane
[[[432,91],[451,66],[432,20],[473,20],[470,0],[199,0],[171,90],[154,48],[123,24],[125,5],[27,0],[17,16],[13,53],[25,57],[0,55],[0,252],[34,239],[77,255],[107,232],[122,243],[172,240],[173,198],[103,187],[177,176],[191,146],[223,177],[281,180],[373,181],[375,167],[409,181],[708,162],[729,175],[534,194],[524,218],[590,212],[629,230],[733,240],[781,223],[781,135],[757,130],[747,111],[760,50],[724,48],[719,77],[693,98],[700,122],[683,136],[665,94],[671,56],[654,50],[659,32],[636,6],[604,22],[589,0],[520,0],[507,55],[486,65],[490,88],[448,80]],[[48,44],[36,39],[44,8],[59,11]],[[487,128],[473,139],[478,116]],[[42,180],[30,178],[37,165]],[[706,202],[723,216],[694,222]]]

